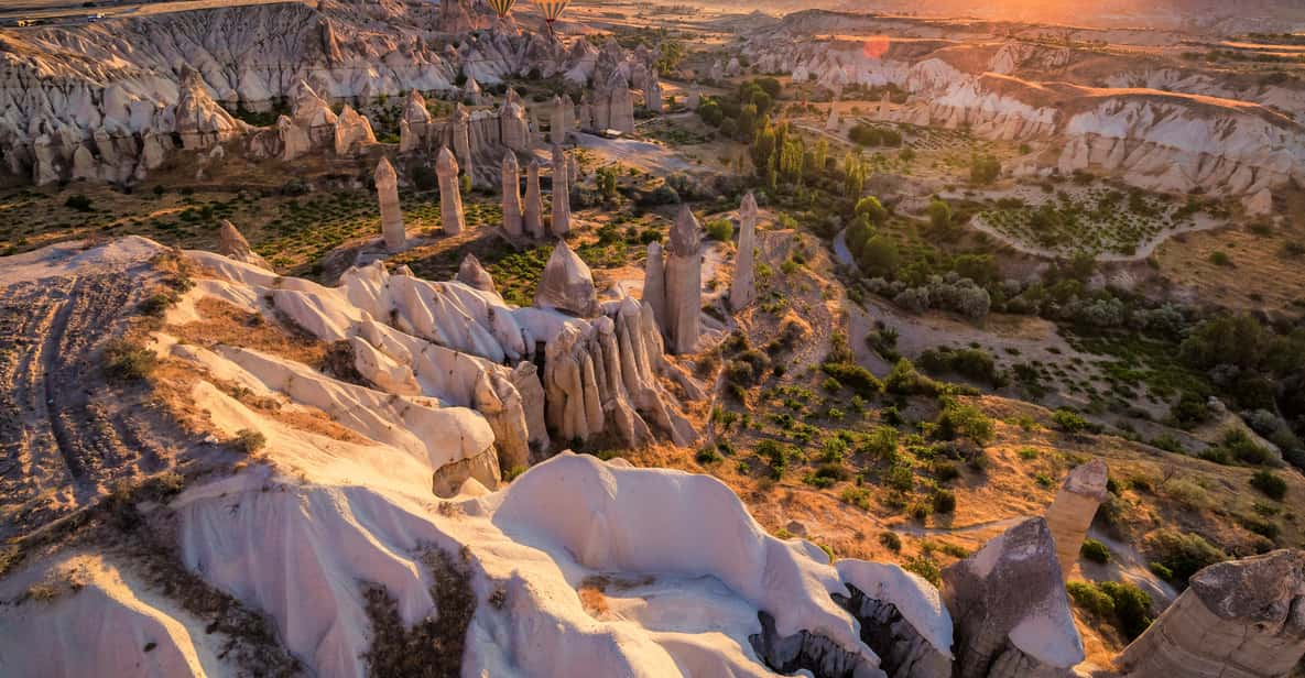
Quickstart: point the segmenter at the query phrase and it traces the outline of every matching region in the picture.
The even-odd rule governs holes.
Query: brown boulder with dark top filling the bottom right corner
[[[1305,554],[1211,565],[1116,660],[1129,678],[1283,677],[1305,655]]]

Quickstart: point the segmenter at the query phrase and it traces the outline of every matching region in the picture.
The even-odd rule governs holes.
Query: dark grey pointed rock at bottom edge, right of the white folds
[[[1056,542],[1041,518],[942,571],[957,678],[1069,675],[1083,661]]]

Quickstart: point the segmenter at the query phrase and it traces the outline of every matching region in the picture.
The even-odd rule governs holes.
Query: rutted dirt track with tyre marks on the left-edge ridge
[[[108,383],[106,343],[147,293],[127,271],[0,287],[0,537],[162,469],[171,432],[141,385]]]

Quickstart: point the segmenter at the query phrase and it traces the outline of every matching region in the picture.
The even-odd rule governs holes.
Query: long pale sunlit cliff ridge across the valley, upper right
[[[1152,190],[1254,196],[1301,183],[1305,128],[1255,102],[1255,93],[1184,94],[1174,82],[1126,76],[1070,83],[1032,82],[1004,73],[1057,70],[1071,52],[1010,43],[987,64],[966,64],[946,50],[867,53],[860,44],[795,42],[784,30],[749,39],[745,53],[762,70],[816,78],[830,91],[840,81],[894,85],[904,106],[877,107],[881,119],[912,125],[964,128],[977,137],[1049,141],[1061,149],[1054,168],[1111,173]],[[1030,65],[1035,64],[1035,65]],[[1148,89],[1150,87],[1150,89]],[[1266,102],[1267,103],[1267,102]]]

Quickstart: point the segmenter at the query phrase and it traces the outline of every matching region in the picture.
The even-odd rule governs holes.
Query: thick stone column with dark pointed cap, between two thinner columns
[[[666,248],[666,334],[675,353],[692,353],[698,346],[698,314],[702,313],[702,235],[698,218],[688,205],[671,228]]]

